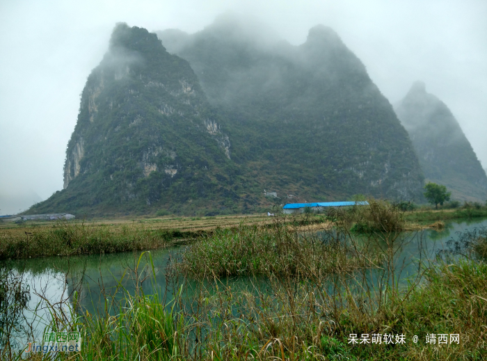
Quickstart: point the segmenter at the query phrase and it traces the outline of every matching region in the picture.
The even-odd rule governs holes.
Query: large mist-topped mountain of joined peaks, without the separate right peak
[[[295,47],[221,17],[159,37],[115,26],[81,94],[64,189],[29,212],[225,214],[357,193],[421,198],[406,130],[332,29],[315,26]]]

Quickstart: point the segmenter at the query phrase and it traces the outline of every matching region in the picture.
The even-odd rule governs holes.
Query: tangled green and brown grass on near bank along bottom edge
[[[182,291],[166,307],[157,295],[125,294],[126,307],[114,315],[79,318],[83,350],[58,353],[56,360],[484,360],[486,279],[483,262],[440,263],[426,271],[421,287],[388,289],[375,310],[358,307],[363,298],[353,293],[344,291],[342,303],[289,280],[271,281],[267,294],[221,282],[210,291],[201,283],[193,300],[198,307],[179,310]],[[403,334],[406,344],[351,345],[351,333]],[[460,343],[426,344],[432,333],[458,333]]]

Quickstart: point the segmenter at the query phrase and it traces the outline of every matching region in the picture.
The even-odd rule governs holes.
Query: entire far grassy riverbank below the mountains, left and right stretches
[[[486,207],[399,213],[403,231],[441,227],[442,222],[455,219],[487,218]],[[317,232],[329,229],[334,216],[298,214],[277,218],[294,232]],[[153,250],[188,243],[220,229],[237,229],[241,225],[255,224],[269,227],[275,219],[276,217],[253,215],[3,224],[0,226],[0,259]],[[353,221],[351,217],[348,221],[350,227]]]

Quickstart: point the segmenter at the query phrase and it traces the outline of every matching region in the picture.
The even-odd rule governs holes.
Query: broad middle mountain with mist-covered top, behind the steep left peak
[[[223,15],[192,35],[157,32],[225,114],[232,160],[267,188],[303,200],[420,199],[423,177],[407,132],[335,31],[315,26],[296,47],[258,29]]]

